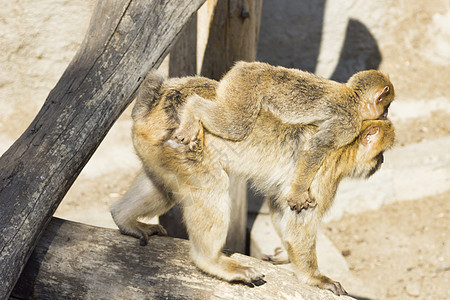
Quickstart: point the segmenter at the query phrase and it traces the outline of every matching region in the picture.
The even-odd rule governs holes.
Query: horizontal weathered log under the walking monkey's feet
[[[15,286],[17,299],[349,299],[302,285],[292,273],[240,254],[261,270],[259,287],[197,269],[187,241],[152,237],[146,247],[118,230],[52,219]]]

